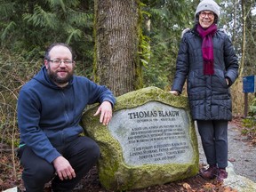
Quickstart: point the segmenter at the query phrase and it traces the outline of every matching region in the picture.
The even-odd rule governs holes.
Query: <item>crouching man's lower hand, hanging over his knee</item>
[[[76,177],[76,172],[63,156],[58,156],[53,160],[53,166],[60,180],[72,180]]]

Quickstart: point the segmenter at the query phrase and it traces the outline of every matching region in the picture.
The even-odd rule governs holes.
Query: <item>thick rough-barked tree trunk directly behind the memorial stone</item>
[[[95,0],[95,81],[116,96],[140,84],[139,0]]]

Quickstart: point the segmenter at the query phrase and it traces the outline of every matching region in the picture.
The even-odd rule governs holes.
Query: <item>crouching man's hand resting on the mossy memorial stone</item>
[[[101,112],[101,114],[100,114]],[[108,125],[112,118],[112,105],[109,101],[104,101],[101,103],[100,107],[94,114],[94,116],[97,116],[100,114],[100,123],[104,125]]]

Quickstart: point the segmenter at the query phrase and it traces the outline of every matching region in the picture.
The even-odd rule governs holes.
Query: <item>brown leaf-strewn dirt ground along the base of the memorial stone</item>
[[[12,173],[2,172],[1,168],[1,180],[0,190],[3,191],[7,188],[18,187],[20,192],[25,191],[22,185],[22,180],[14,180]],[[21,173],[21,169],[19,171]],[[20,174],[19,173],[19,174]],[[3,180],[3,179],[4,180]],[[8,179],[7,179],[8,178]],[[96,167],[93,167],[90,172],[84,177],[78,186],[73,190],[74,192],[114,192],[113,190],[107,190],[100,186],[99,176]],[[215,180],[204,180],[201,176],[196,175],[195,177],[188,178],[186,180],[179,180],[172,183],[167,183],[162,186],[152,186],[143,189],[127,190],[126,192],[228,192],[236,191],[228,186],[223,187],[220,183]],[[50,183],[45,186],[44,192],[51,192]]]

